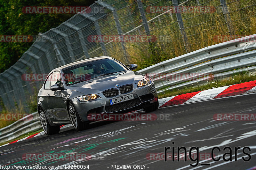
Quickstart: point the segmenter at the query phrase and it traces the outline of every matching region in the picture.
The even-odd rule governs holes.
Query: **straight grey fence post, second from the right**
[[[175,9],[178,9],[179,5],[178,5],[177,0],[172,0],[172,4],[173,4]],[[177,21],[178,21],[178,24],[179,24],[179,27],[180,27],[180,33],[181,33],[182,40],[183,40],[183,43],[184,43],[184,46],[185,46],[185,49],[186,49],[186,53],[189,53],[190,52],[190,46],[189,46],[189,43],[188,43],[188,37],[187,37],[187,34],[185,32],[185,28],[184,28],[184,24],[183,24],[183,21],[182,21],[181,14],[179,12],[176,12],[176,17],[177,17]]]

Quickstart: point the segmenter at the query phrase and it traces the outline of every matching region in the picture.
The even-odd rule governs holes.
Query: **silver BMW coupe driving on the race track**
[[[84,130],[91,115],[124,114],[158,108],[153,80],[109,56],[70,63],[50,72],[37,95],[37,110],[46,135],[60,125]]]

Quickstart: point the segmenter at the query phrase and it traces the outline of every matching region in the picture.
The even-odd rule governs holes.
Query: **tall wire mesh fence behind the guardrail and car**
[[[40,34],[0,74],[2,107],[27,103],[52,69],[108,55],[139,69],[256,31],[255,0],[99,0]],[[28,108],[26,108],[28,110]],[[0,107],[1,110],[1,107]]]

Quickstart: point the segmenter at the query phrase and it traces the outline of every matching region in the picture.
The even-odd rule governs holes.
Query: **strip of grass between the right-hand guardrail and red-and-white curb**
[[[234,85],[234,84],[244,83],[244,82],[253,81],[253,80],[256,80],[256,75],[248,72],[243,72],[240,74],[234,74],[233,76],[225,79],[208,81],[208,83],[205,85],[192,84],[192,86],[189,86],[189,87],[185,86],[182,89],[168,90],[168,91],[165,91],[164,93],[159,93],[158,98],[161,99],[161,98],[176,96],[176,95],[185,94],[185,93],[198,92],[202,90],[223,87],[227,85]]]

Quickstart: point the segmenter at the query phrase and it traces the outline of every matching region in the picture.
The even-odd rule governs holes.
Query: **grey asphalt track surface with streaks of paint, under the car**
[[[70,168],[71,165],[89,165],[90,170],[116,169],[114,165],[131,165],[131,169],[134,169],[134,165],[142,165],[142,169],[148,170],[249,169],[256,166],[256,121],[216,121],[213,115],[255,114],[255,101],[256,94],[240,95],[162,107],[152,113],[158,118],[161,115],[161,119],[165,116],[164,120],[94,122],[90,124],[89,129],[81,132],[76,132],[72,127],[62,129],[56,135],[43,135],[0,147],[0,165],[66,165],[67,168],[68,165]],[[199,155],[211,154],[212,148],[217,146],[220,147],[221,152],[215,150],[213,153],[216,158],[221,159],[215,162],[201,160],[204,159],[202,157],[199,158],[199,165],[196,167],[189,165],[195,164],[196,161],[169,159],[164,161],[159,155],[164,154],[165,146],[174,147],[174,153],[177,153],[177,147],[181,146],[185,146],[187,151],[192,146],[199,147]],[[232,161],[223,160],[223,154],[229,152],[229,150],[222,151],[225,146],[232,149]],[[250,147],[251,151],[246,150],[251,155],[250,161],[245,162],[242,159],[242,157],[249,159],[242,149],[237,151],[237,161],[235,161],[235,147],[238,146]],[[59,155],[86,153],[92,157],[87,160],[24,158],[24,154],[39,153]],[[167,153],[172,153],[172,149],[167,150]],[[200,165],[202,163],[209,163],[210,166]]]

